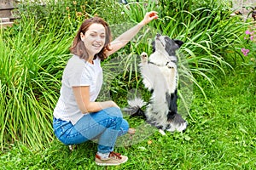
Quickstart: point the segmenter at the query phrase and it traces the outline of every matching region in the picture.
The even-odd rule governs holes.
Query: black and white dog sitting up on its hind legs
[[[157,34],[153,54],[141,54],[139,65],[143,84],[152,95],[148,105],[143,99],[128,100],[125,109],[131,116],[143,116],[146,122],[164,131],[183,132],[188,123],[177,113],[177,56],[176,50],[183,44],[180,40]],[[142,110],[147,105],[146,111]]]

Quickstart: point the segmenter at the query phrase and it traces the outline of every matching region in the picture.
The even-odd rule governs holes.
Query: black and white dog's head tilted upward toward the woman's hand
[[[160,53],[166,52],[169,56],[175,56],[175,51],[180,48],[182,44],[183,42],[180,40],[156,34],[154,42],[152,42],[153,53],[155,51],[160,51]]]

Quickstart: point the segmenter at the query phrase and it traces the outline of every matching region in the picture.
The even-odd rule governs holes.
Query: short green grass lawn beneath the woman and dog
[[[240,66],[236,74],[201,80],[208,100],[194,89],[188,130],[155,132],[148,139],[116,151],[129,156],[117,167],[97,167],[96,144],[80,144],[73,152],[57,139],[42,150],[9,145],[0,156],[0,169],[254,169],[256,167],[256,72]],[[139,133],[139,132],[137,132]]]

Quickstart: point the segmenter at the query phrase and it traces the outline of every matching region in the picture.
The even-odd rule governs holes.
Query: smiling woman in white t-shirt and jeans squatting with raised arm
[[[118,136],[133,133],[112,100],[97,102],[102,88],[101,60],[123,48],[149,21],[157,19],[154,11],[125,31],[113,42],[108,23],[100,17],[84,20],[70,48],[61,80],[61,96],[55,106],[53,127],[63,144],[80,144],[98,139],[97,165],[119,165],[128,160],[113,152]]]

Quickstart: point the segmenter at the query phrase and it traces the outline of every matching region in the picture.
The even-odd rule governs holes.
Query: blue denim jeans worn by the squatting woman
[[[113,151],[118,136],[128,132],[129,124],[123,119],[119,108],[109,107],[85,114],[74,125],[54,117],[53,128],[56,137],[63,144],[81,144],[91,139],[98,139],[98,151],[108,153]]]

